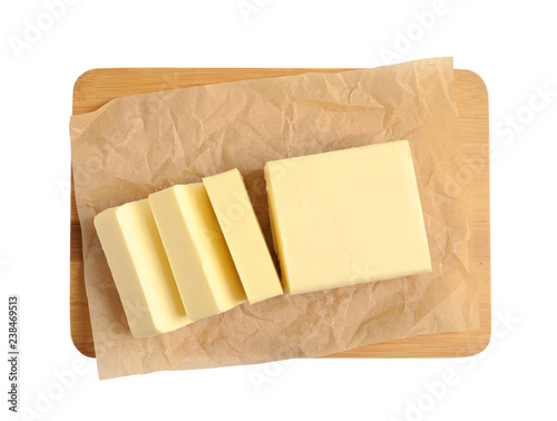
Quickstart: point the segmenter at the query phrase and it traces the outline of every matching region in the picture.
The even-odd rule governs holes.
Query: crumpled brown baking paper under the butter
[[[476,330],[469,190],[452,59],[305,74],[117,98],[71,117],[85,281],[100,379],[320,356],[411,335]],[[285,157],[408,139],[430,274],[280,296],[178,331],[134,339],[94,229],[99,212],[238,168],[271,245],[263,166]],[[138,310],[140,311],[140,309]]]

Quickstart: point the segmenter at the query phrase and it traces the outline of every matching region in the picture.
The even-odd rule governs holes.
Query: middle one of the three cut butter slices
[[[149,204],[189,319],[222,313],[245,302],[203,183],[154,193]]]

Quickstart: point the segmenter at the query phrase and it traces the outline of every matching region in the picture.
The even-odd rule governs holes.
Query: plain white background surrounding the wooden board
[[[240,3],[255,4],[256,11],[243,14],[237,0],[74,0],[49,18],[42,1],[2,2],[0,351],[7,349],[8,295],[16,293],[20,405],[36,411],[27,419],[555,419],[557,26],[551,2]],[[46,29],[26,40],[29,21],[37,20]],[[402,36],[412,39],[404,43]],[[29,42],[18,50],[16,38]],[[383,57],[387,49],[397,56]],[[95,360],[81,356],[69,334],[68,123],[81,72],[375,67],[437,56],[453,56],[457,68],[475,70],[489,89],[497,149],[491,159],[497,334],[487,351],[465,360],[296,360],[98,381]],[[537,94],[544,89],[545,98]],[[514,127],[510,118],[518,121]],[[0,366],[3,420],[8,364]],[[451,373],[456,384],[440,386]],[[438,386],[434,396],[431,383]]]

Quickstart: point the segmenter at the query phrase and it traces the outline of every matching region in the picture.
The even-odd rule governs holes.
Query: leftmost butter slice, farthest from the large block
[[[95,228],[133,335],[153,336],[188,324],[148,202],[104,210],[95,217]]]

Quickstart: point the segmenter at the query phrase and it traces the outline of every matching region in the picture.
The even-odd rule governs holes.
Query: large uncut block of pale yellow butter
[[[407,140],[270,161],[265,180],[286,293],[431,272]]]

